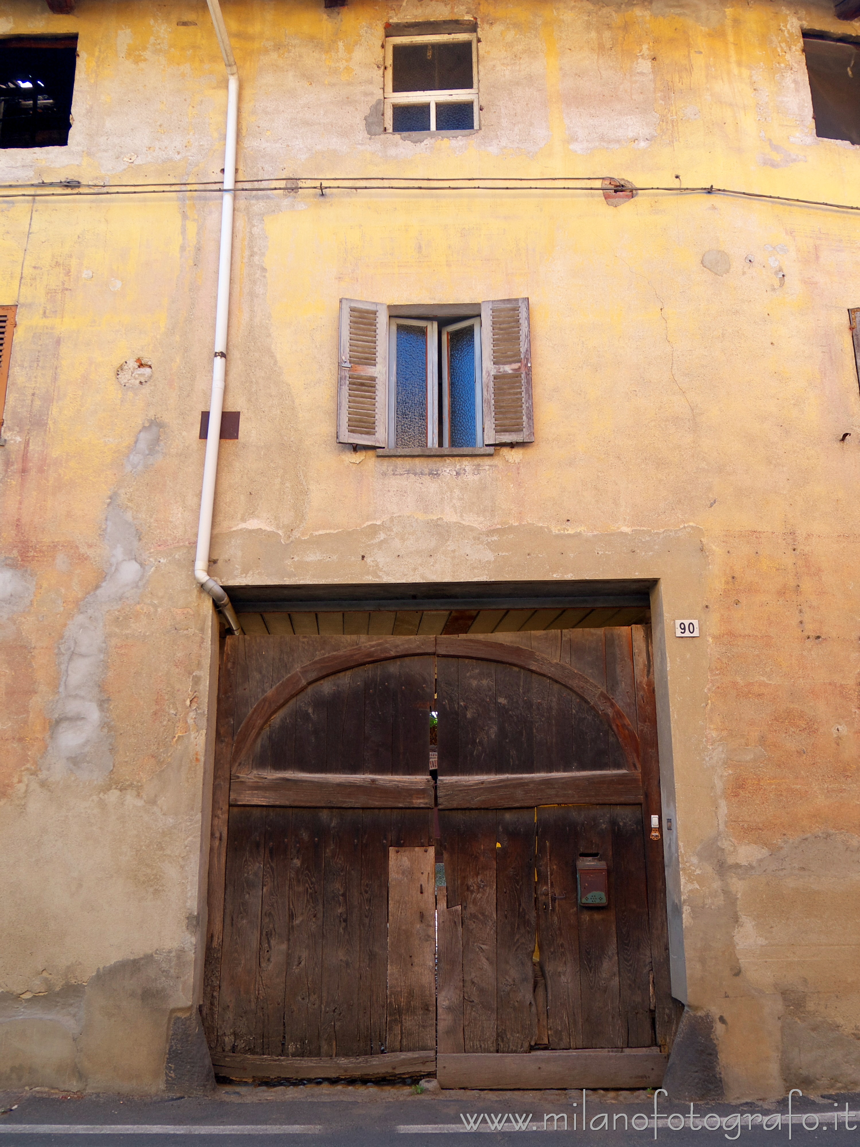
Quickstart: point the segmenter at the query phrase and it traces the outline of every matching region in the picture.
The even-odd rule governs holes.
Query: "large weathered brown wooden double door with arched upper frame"
[[[228,638],[216,1071],[658,1084],[675,1015],[659,812],[647,627]]]

